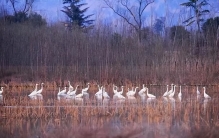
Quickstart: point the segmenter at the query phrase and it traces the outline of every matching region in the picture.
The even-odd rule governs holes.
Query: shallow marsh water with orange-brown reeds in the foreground
[[[166,86],[150,86],[147,96],[125,100],[57,96],[57,90],[43,90],[29,97],[27,90],[0,96],[0,134],[3,137],[185,137],[207,130],[219,136],[218,86],[207,86],[211,99],[196,95],[196,86],[176,87],[174,98],[162,97]],[[80,93],[79,91],[77,93]],[[124,91],[126,93],[126,91]],[[125,96],[125,94],[123,95]],[[205,131],[204,131],[205,130]],[[86,132],[86,133],[85,133]],[[104,134],[103,134],[104,132]],[[193,134],[194,133],[194,134]],[[134,134],[134,135],[133,135]],[[207,134],[207,133],[206,133]]]

